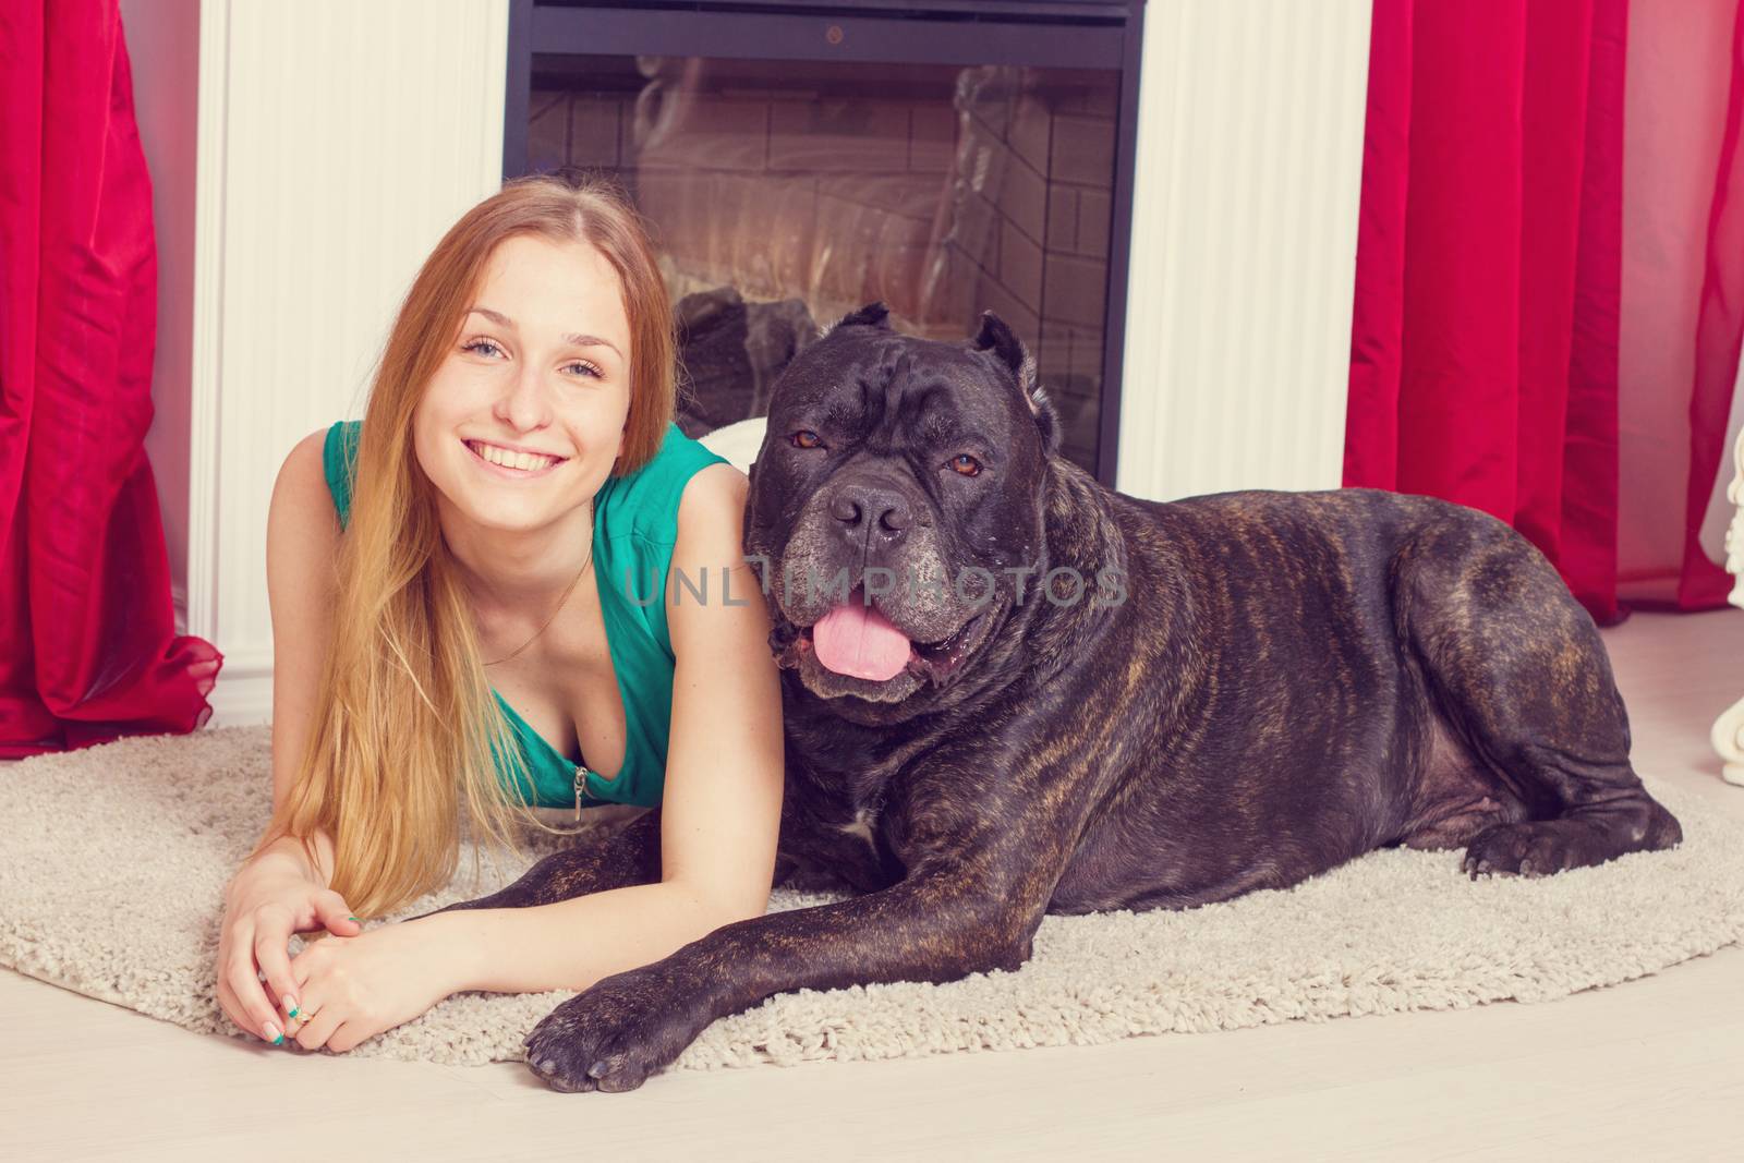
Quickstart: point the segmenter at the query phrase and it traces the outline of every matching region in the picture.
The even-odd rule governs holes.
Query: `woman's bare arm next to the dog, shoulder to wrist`
[[[668,586],[680,602],[668,596],[666,609],[677,670],[661,882],[420,921],[441,922],[453,942],[453,989],[588,989],[767,907],[785,774],[781,685],[769,612],[739,542],[746,492],[743,473],[715,464],[691,478],[678,504],[673,568],[698,589],[706,575],[708,598]]]

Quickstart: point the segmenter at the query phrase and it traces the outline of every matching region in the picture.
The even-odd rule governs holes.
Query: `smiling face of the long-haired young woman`
[[[469,307],[413,411],[413,448],[467,520],[539,528],[588,504],[623,452],[630,319],[617,272],[588,242],[514,235]]]

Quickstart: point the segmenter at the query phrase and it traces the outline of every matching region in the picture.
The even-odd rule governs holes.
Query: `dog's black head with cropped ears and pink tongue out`
[[[846,316],[776,380],[745,549],[783,666],[849,718],[940,706],[1043,556],[1060,424],[992,312],[970,343]]]

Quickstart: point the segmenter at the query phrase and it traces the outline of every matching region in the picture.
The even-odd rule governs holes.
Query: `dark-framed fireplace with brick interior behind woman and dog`
[[[1114,481],[1141,3],[513,0],[504,174],[616,176],[677,303],[678,422],[764,415],[870,300],[1036,356]]]

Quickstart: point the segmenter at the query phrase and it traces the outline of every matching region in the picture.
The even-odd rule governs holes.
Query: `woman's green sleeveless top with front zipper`
[[[340,420],[326,434],[323,462],[340,528],[351,518],[351,481],[361,429],[363,420]],[[593,565],[612,671],[624,703],[624,765],[617,778],[602,779],[579,753],[562,755],[492,689],[532,776],[532,795],[525,783],[518,788],[527,802],[539,807],[659,804],[666,783],[671,673],[677,664],[666,633],[666,572],[678,539],[678,497],[698,469],[717,462],[727,464],[727,459],[685,436],[677,424],[668,424],[652,460],[628,476],[609,476],[595,493]],[[499,765],[499,776],[504,788],[516,785],[509,764]]]

